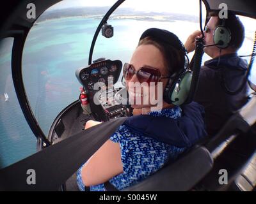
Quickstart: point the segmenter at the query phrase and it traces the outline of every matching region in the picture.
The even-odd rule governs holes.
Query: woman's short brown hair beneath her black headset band
[[[180,73],[180,71],[184,69],[184,52],[177,50],[177,48],[173,47],[172,45],[157,41],[152,37],[143,38],[138,43],[138,46],[140,45],[154,45],[160,50],[164,57],[164,66],[166,66],[168,69],[167,71],[170,76],[173,75],[173,73]]]

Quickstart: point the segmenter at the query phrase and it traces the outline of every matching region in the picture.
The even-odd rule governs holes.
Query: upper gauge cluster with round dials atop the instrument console
[[[76,77],[88,92],[99,91],[99,87],[106,87],[115,84],[122,70],[120,60],[109,59],[97,61],[86,68],[76,71]]]

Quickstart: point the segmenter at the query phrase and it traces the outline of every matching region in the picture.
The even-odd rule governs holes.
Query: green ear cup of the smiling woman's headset
[[[170,94],[169,94],[173,105],[180,106],[186,102],[189,91],[190,91],[191,80],[192,80],[192,72],[185,71],[182,74],[182,77],[180,77],[179,82],[173,85],[173,89],[170,90]]]

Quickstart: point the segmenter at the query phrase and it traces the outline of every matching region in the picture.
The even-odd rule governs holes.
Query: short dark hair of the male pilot
[[[216,27],[223,23],[223,19],[219,17],[218,12],[216,11],[210,12],[209,17],[218,17]],[[242,24],[239,17],[237,17],[231,11],[228,11],[228,18],[225,18],[225,27],[227,27],[231,33],[231,40],[228,47],[232,47],[237,51],[243,45],[244,25]]]

